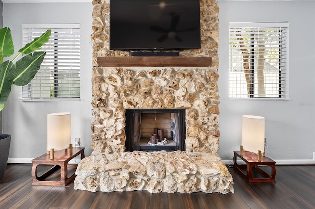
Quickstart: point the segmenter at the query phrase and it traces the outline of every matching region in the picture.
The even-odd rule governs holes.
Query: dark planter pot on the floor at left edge
[[[9,158],[11,135],[0,134],[0,181],[4,176],[4,171]]]

